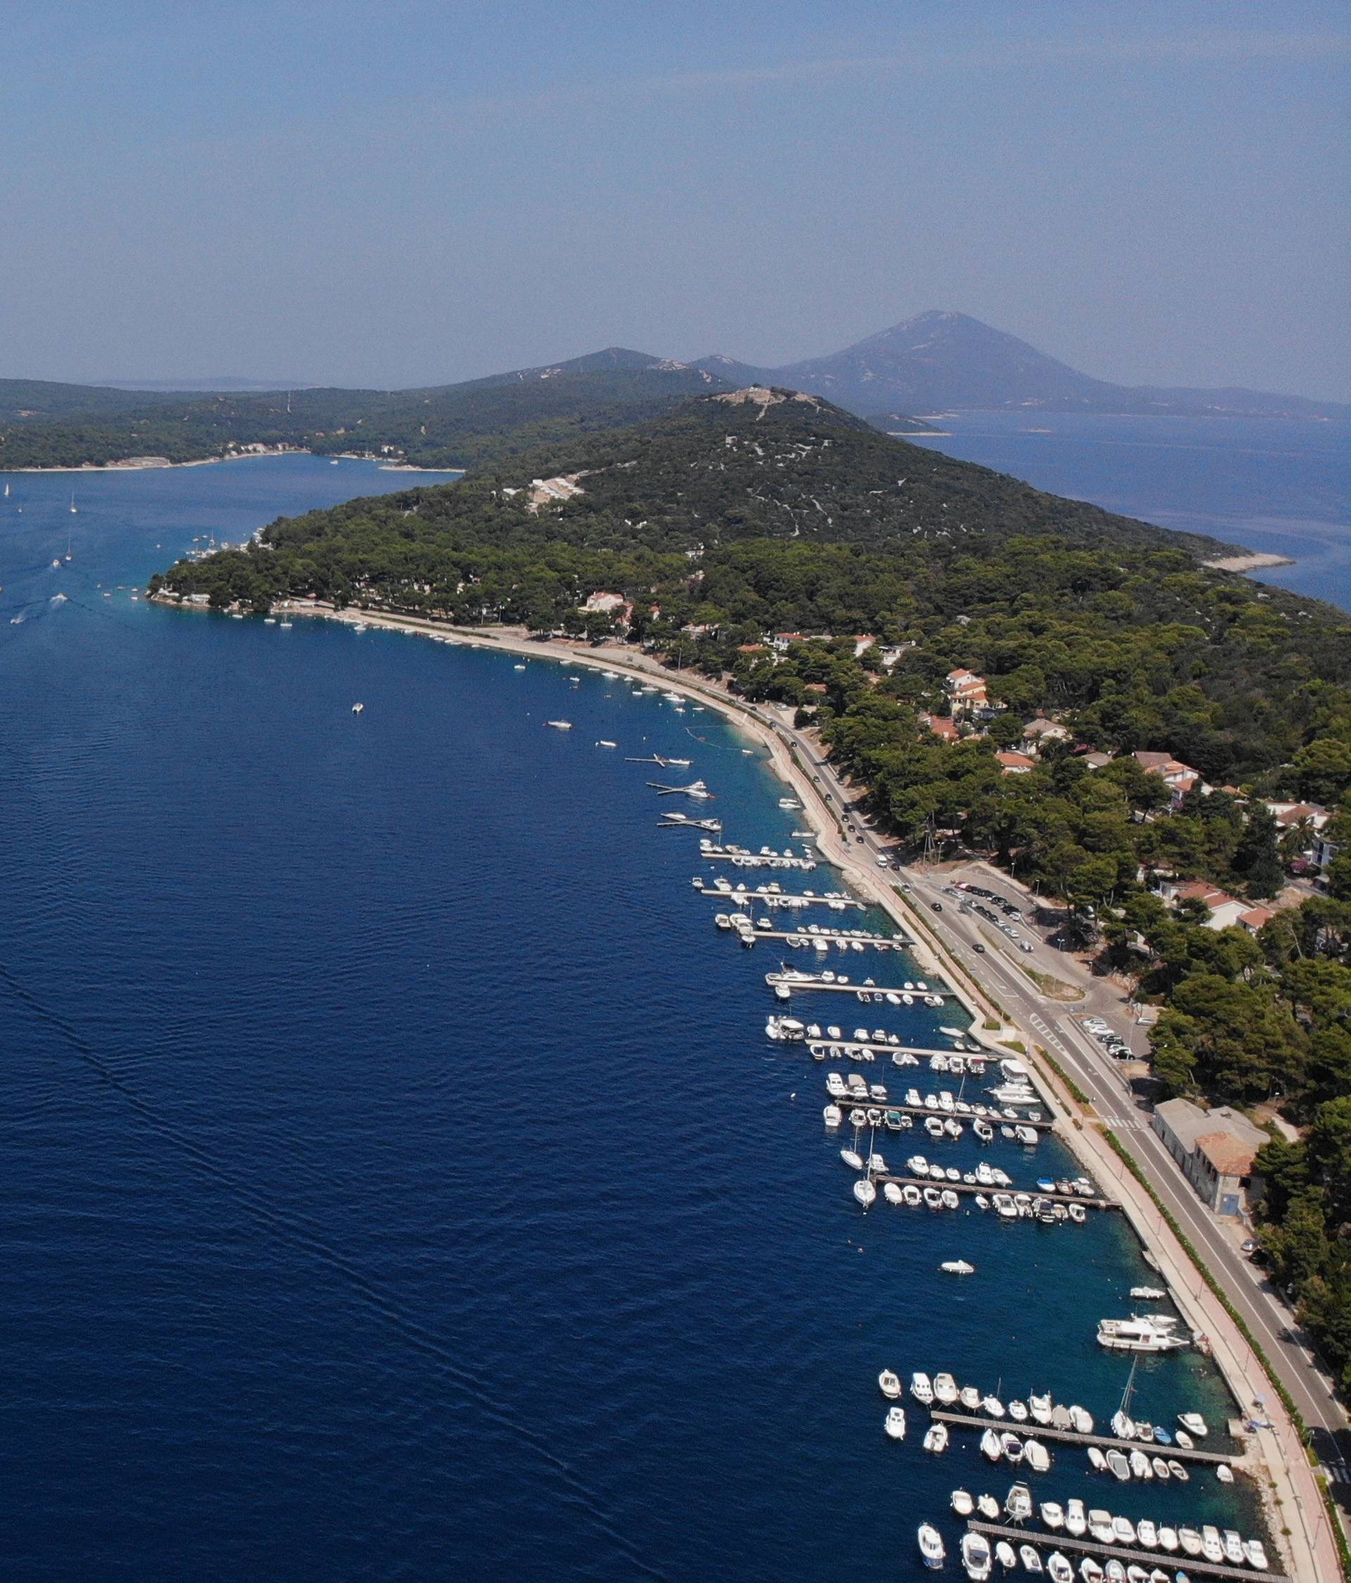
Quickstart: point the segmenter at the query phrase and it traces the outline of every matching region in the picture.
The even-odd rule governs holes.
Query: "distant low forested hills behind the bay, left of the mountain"
[[[46,407],[16,393],[13,405],[0,407],[0,469],[108,465],[138,456],[190,462],[259,445],[471,467],[657,416],[720,388],[712,374],[611,347],[571,363],[427,389],[95,391],[85,405],[68,394],[63,405],[49,397]]]

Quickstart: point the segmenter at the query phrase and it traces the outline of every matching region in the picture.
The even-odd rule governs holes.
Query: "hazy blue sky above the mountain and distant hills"
[[[930,307],[1351,400],[1351,11],[0,0],[0,377],[761,366]]]

